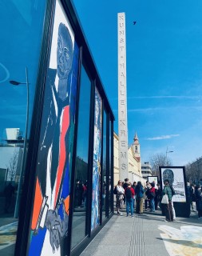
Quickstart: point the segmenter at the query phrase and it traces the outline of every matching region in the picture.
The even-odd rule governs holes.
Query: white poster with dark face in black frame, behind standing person
[[[164,180],[168,179],[175,190],[172,202],[186,202],[185,170],[184,166],[159,167],[161,188],[164,188]]]

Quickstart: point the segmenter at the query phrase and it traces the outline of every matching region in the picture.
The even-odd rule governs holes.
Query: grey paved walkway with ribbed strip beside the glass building
[[[113,218],[107,222],[89,246],[85,248],[81,256],[187,256],[188,254],[173,254],[173,252],[171,254],[174,246],[182,246],[184,241],[179,242],[182,241],[179,240],[182,238],[178,239],[176,237],[176,240],[163,240],[162,234],[164,232],[159,227],[167,229],[168,233],[171,232],[171,229],[179,234],[181,226],[197,228],[200,226],[202,229],[202,221],[198,220],[194,212],[192,212],[190,218],[176,218],[174,222],[164,222],[164,216],[162,216],[160,210],[156,210],[155,213],[145,211],[141,215],[135,214],[134,218],[126,217],[125,210],[122,210],[122,213],[122,216],[113,215]],[[188,236],[188,234],[186,235]],[[170,238],[174,237],[170,235]],[[166,243],[165,246],[164,242],[169,243]],[[186,241],[185,246],[188,246]],[[176,251],[179,251],[179,248]],[[202,255],[202,247],[199,246],[197,250],[201,253],[197,255]]]

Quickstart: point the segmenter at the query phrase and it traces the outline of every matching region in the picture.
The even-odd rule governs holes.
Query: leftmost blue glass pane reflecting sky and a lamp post
[[[20,174],[25,171],[22,170],[23,154],[26,156],[24,148],[27,150],[29,146],[45,6],[46,1],[38,1],[38,5],[31,0],[23,2],[23,5],[22,1],[2,0],[0,3],[0,229],[3,241],[1,255],[14,254],[20,203],[18,200],[16,204],[16,198]],[[9,82],[13,80],[26,83],[26,66],[30,80],[27,143],[26,84],[14,86]],[[23,179],[24,175],[22,182]],[[19,199],[21,193],[22,190],[19,189]]]

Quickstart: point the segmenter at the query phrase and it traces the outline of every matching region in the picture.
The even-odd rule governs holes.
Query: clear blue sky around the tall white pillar
[[[125,12],[129,144],[141,160],[183,166],[202,156],[202,1],[74,0],[117,132],[117,13]],[[137,24],[134,26],[133,21]]]

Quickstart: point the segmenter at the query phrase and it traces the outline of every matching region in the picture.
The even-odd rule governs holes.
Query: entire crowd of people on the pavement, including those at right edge
[[[198,218],[202,219],[202,192],[201,186],[191,186],[187,183],[187,198],[193,211],[198,211]],[[114,194],[116,194],[116,208],[117,214],[122,215],[121,208],[126,209],[126,216],[131,214],[134,217],[134,210],[136,214],[143,214],[143,204],[145,202],[145,210],[150,210],[152,213],[164,206],[165,222],[173,222],[176,218],[176,212],[173,206],[172,197],[175,190],[172,188],[168,179],[164,180],[163,190],[160,190],[160,184],[147,181],[145,186],[141,182],[129,182],[125,178],[125,182],[118,181],[117,186],[114,187]],[[164,195],[168,196],[168,203],[162,205],[161,199]],[[193,208],[192,202],[196,202],[196,210]],[[162,210],[162,208],[161,208]]]

